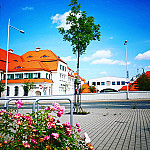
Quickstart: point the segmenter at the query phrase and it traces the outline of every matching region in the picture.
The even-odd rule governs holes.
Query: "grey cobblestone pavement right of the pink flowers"
[[[91,109],[74,115],[81,136],[88,133],[95,150],[150,150],[150,109]],[[69,121],[63,115],[63,122]]]

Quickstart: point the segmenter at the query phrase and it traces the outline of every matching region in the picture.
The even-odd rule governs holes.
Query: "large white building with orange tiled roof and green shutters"
[[[7,52],[0,49],[0,80],[6,79]],[[51,50],[28,51],[22,56],[8,52],[7,96],[23,96],[25,82],[33,82],[29,96],[74,93],[74,71]],[[4,93],[3,93],[4,96]]]

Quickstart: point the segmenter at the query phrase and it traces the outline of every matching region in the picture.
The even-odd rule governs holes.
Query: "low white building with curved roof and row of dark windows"
[[[126,78],[106,76],[90,79],[88,84],[95,86],[97,92],[117,92],[126,82]]]

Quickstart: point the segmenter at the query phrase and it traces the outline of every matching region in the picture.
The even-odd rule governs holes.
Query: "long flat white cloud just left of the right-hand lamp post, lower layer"
[[[109,64],[109,65],[118,64],[118,65],[126,65],[126,63],[124,61],[107,59],[107,58],[101,58],[101,59],[94,60],[94,61],[92,61],[91,64]],[[130,62],[128,62],[127,64],[129,65]]]

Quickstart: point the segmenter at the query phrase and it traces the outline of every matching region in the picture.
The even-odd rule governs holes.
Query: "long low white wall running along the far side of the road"
[[[100,101],[100,100],[125,100],[127,98],[127,93],[126,92],[107,92],[107,93],[85,93],[81,94],[81,100],[82,101]],[[52,99],[57,99],[57,98],[69,98],[72,101],[74,101],[74,95],[69,94],[69,95],[49,95],[49,96],[32,96],[32,97],[20,97],[26,98],[29,100],[26,100],[26,102],[32,102],[31,99],[37,99],[37,98],[52,98]],[[19,98],[19,97],[8,97],[8,99],[11,98]],[[150,91],[130,91],[129,92],[129,99],[149,99],[150,100]],[[0,103],[4,103],[5,100],[0,99]]]

